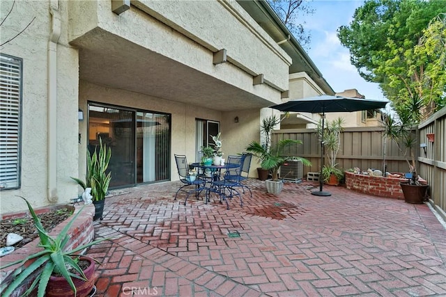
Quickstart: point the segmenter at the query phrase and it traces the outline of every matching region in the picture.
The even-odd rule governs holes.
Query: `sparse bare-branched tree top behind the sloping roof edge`
[[[272,9],[282,19],[286,28],[293,33],[299,44],[305,49],[309,49],[312,39],[311,33],[305,31],[300,22],[300,15],[312,15],[314,9],[307,5],[308,0],[267,0]]]

